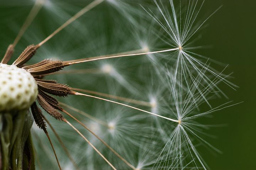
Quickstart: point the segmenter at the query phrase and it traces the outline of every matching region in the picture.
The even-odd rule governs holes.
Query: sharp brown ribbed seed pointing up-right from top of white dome
[[[13,65],[20,67],[25,64],[36,53],[39,46],[34,44],[27,46],[27,48],[21,53],[21,55],[12,63]]]

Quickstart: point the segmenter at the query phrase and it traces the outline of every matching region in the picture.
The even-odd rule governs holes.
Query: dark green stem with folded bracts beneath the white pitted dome
[[[33,117],[27,111],[0,113],[0,169],[34,169],[30,129]],[[24,158],[24,155],[26,158]],[[23,159],[24,158],[24,159]]]

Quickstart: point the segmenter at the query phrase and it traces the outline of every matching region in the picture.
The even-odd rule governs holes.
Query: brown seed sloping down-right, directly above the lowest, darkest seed
[[[53,108],[40,94],[38,94],[37,101],[47,113],[52,115],[52,117],[58,120],[63,119],[63,115],[60,112],[58,112],[55,108]]]

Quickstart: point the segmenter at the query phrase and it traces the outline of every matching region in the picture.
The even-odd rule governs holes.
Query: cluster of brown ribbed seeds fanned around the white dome
[[[44,116],[42,114],[42,111],[40,108],[38,108],[37,102],[40,104],[40,106],[50,115],[52,115],[55,119],[63,120],[63,115],[59,111],[63,111],[63,109],[59,106],[58,100],[51,96],[67,96],[67,95],[74,95],[75,92],[71,90],[71,88],[64,84],[59,84],[55,80],[43,80],[42,77],[44,75],[57,72],[64,68],[65,66],[68,66],[69,64],[63,63],[59,60],[43,60],[41,62],[38,62],[36,64],[25,66],[26,62],[30,60],[31,57],[36,53],[36,50],[39,46],[30,45],[28,46],[21,55],[15,60],[14,63],[12,63],[11,67],[16,67],[17,69],[20,69],[21,72],[26,72],[26,74],[30,75],[29,79],[33,79],[34,82],[36,82],[36,92],[33,91],[33,94],[36,94],[37,98],[33,98],[32,102],[30,102],[29,106],[31,106],[32,115],[34,118],[35,123],[38,125],[39,128],[45,130],[46,129],[46,123],[44,121]],[[6,59],[7,57],[7,59]],[[9,60],[8,55],[5,56],[2,62],[7,63]],[[8,66],[7,64],[4,64]],[[20,74],[20,73],[18,73]],[[16,78],[16,77],[11,77]],[[17,81],[17,80],[16,80]],[[4,82],[2,82],[4,83]],[[22,85],[21,83],[18,83],[18,85]],[[28,84],[28,87],[31,86],[31,84]],[[9,86],[10,88],[12,86]],[[28,88],[26,91],[31,92],[31,89]],[[21,94],[27,96],[28,94]],[[10,95],[10,94],[8,94]],[[10,104],[8,104],[10,107]],[[29,106],[26,106],[27,108]]]

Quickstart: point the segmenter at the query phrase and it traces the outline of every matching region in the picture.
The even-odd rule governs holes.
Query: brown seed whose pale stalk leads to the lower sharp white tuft
[[[56,82],[49,82],[52,80],[39,80],[37,79],[38,89],[56,96],[68,96],[73,94],[71,88],[65,84]]]

